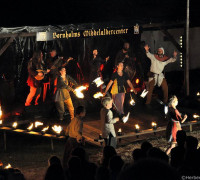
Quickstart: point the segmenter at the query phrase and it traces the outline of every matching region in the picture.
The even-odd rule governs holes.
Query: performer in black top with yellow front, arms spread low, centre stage
[[[104,92],[104,96],[110,89],[111,89],[111,94],[112,98],[114,101],[114,104],[117,107],[117,111],[120,113],[120,115],[124,114],[124,99],[125,99],[125,83],[128,84],[128,86],[131,88],[131,90],[137,94],[137,91],[134,89],[131,81],[128,78],[128,75],[123,71],[124,69],[124,64],[123,62],[118,62],[117,63],[117,71],[112,74],[111,80],[108,83],[106,90]]]

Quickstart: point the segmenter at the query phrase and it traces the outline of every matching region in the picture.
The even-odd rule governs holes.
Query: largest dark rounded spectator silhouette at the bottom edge
[[[143,159],[120,173],[119,180],[181,180],[178,173],[159,159]]]

